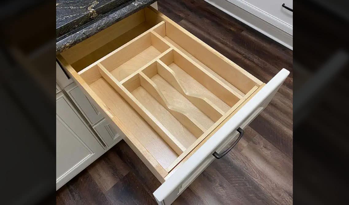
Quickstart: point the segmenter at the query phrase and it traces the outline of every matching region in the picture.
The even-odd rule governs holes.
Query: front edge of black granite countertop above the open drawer
[[[56,54],[80,43],[156,0],[133,0],[56,39]]]

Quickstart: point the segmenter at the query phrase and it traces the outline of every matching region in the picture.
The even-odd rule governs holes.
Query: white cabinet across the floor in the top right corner
[[[292,0],[205,0],[237,20],[293,50]]]

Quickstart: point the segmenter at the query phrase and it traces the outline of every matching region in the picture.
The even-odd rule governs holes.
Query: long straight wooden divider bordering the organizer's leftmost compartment
[[[101,63],[98,63],[97,66],[102,77],[147,121],[178,155],[185,151],[186,148]]]

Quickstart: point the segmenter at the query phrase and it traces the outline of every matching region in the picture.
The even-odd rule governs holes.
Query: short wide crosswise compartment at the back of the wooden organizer
[[[134,71],[156,58],[169,46],[153,33],[146,32],[120,47],[101,64],[118,80],[122,81]]]

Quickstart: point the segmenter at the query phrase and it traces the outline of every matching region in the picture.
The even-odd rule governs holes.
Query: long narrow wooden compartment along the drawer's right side
[[[239,93],[240,96],[249,92],[254,86],[260,86],[262,82],[248,73],[246,70],[231,62],[213,48],[199,42],[195,36],[184,29],[166,22],[165,36],[163,30],[159,33],[168,43],[178,50],[189,54],[196,63],[209,71],[216,77],[224,79],[230,84],[230,88]]]

